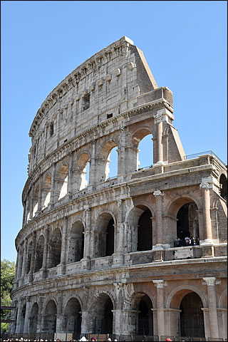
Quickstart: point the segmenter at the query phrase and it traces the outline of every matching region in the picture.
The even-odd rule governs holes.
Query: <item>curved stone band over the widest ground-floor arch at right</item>
[[[202,300],[203,307],[207,308],[207,300],[202,291],[200,291],[196,286],[180,285],[170,292],[167,300],[165,301],[165,309],[178,309],[177,306],[180,306],[180,301],[182,300],[183,296],[190,292],[197,293]]]

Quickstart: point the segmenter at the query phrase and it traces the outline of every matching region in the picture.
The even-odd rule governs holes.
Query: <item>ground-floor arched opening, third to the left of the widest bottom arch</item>
[[[81,305],[76,298],[71,298],[65,311],[64,330],[73,333],[73,338],[78,338],[81,333]]]

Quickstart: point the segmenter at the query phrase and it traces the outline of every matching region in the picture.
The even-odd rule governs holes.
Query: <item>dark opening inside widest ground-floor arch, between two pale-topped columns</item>
[[[204,315],[202,300],[190,292],[180,303],[180,336],[204,337]]]

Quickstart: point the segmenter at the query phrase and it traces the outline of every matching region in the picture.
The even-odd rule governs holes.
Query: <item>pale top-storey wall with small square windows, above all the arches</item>
[[[142,51],[129,38],[95,53],[48,95],[36,113],[29,132],[28,173],[67,140],[135,108],[142,103],[140,95],[155,89]]]

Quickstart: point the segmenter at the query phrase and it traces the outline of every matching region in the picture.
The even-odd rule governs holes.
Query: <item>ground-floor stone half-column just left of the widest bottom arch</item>
[[[164,280],[152,280],[152,282],[157,287],[157,335],[165,336],[164,287],[166,283]]]

